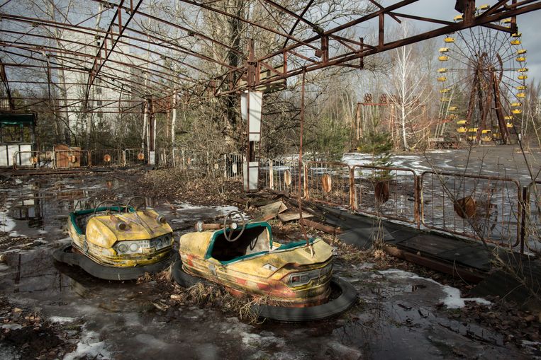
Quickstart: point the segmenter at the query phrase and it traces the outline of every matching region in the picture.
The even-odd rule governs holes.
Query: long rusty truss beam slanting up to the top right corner
[[[400,3],[395,4],[394,6],[387,7],[386,11],[389,11],[389,8],[391,8],[391,7],[393,9],[396,8],[399,4],[400,4],[400,6],[404,6],[405,4],[410,4],[411,2],[414,2],[414,1],[417,1],[417,0],[401,1]],[[490,16],[484,16],[483,14],[481,14],[481,15],[475,17],[470,23],[466,23],[464,21],[459,22],[459,23],[450,23],[449,25],[445,25],[445,26],[443,26],[442,28],[439,28],[439,29],[430,30],[428,32],[420,33],[418,35],[413,35],[411,37],[406,37],[405,39],[384,43],[383,45],[377,45],[377,46],[364,45],[364,47],[366,47],[366,49],[359,50],[358,52],[348,52],[348,53],[345,53],[345,54],[340,54],[340,55],[338,55],[336,57],[333,57],[333,58],[329,59],[328,62],[316,62],[315,64],[308,64],[308,65],[305,65],[303,67],[306,67],[306,71],[314,71],[314,70],[317,70],[317,69],[323,69],[323,68],[328,67],[328,66],[340,65],[340,64],[343,64],[345,62],[350,62],[352,60],[359,59],[359,58],[362,58],[362,57],[365,57],[365,56],[369,56],[369,55],[372,55],[372,54],[377,54],[379,52],[385,52],[385,51],[393,50],[393,49],[396,49],[397,47],[402,47],[404,45],[409,45],[409,44],[412,44],[412,43],[415,43],[415,42],[420,42],[422,40],[427,40],[427,39],[437,37],[437,36],[440,36],[440,35],[445,35],[447,33],[452,33],[454,31],[464,30],[464,29],[467,29],[467,28],[472,28],[474,26],[484,25],[486,23],[492,23],[494,21],[499,21],[499,20],[501,20],[503,18],[508,18],[508,17],[511,17],[511,16],[517,16],[517,15],[520,15],[522,13],[528,13],[530,11],[535,11],[535,10],[541,9],[541,4],[540,4],[539,0],[530,0],[530,1],[527,1],[527,2],[528,3],[537,2],[537,4],[531,4],[531,5],[523,6],[523,7],[513,6],[513,8],[511,8],[509,10],[508,9],[499,9],[498,11],[496,11],[496,13],[493,13],[493,15],[490,15]],[[519,4],[515,4],[515,5],[519,5]],[[366,21],[366,20],[374,18],[375,16],[379,16],[379,13],[383,13],[383,11],[377,11],[375,13],[364,16],[363,19],[365,19],[365,20],[362,20],[362,21]],[[360,19],[358,19],[356,21],[353,21],[352,23],[361,23],[362,21]],[[340,28],[340,30],[341,30],[344,26],[345,25],[340,25],[338,28]],[[338,31],[338,30],[333,29],[333,30],[329,30],[326,33],[330,34],[330,33],[334,33],[335,31]],[[316,36],[316,37],[312,37],[311,40],[312,39],[313,40],[318,40],[318,38],[320,38],[319,35]],[[267,56],[264,56],[264,57],[258,59],[257,61],[262,62],[262,61],[267,60],[267,59],[269,59],[271,57],[276,57],[277,55],[283,56],[284,52],[291,53],[290,50],[292,50],[292,49],[294,49],[296,47],[299,47],[299,46],[301,46],[301,45],[299,45],[299,44],[290,45],[288,48],[286,48],[282,52],[274,52],[272,54],[269,54]],[[279,79],[287,79],[287,78],[289,78],[291,76],[297,76],[297,75],[300,75],[302,73],[302,71],[303,71],[302,67],[299,67],[299,68],[296,68],[296,69],[291,69],[291,70],[287,69],[286,72],[281,76],[274,76],[271,79],[260,81],[260,85],[263,86],[263,85],[267,85],[268,83],[272,83],[274,81],[277,81]],[[227,74],[225,74],[225,75],[227,75]],[[245,88],[245,86],[239,86],[239,87],[233,88],[233,90],[229,90],[229,91],[221,91],[217,95],[225,95],[227,93],[240,91],[240,90],[242,90],[242,88]]]

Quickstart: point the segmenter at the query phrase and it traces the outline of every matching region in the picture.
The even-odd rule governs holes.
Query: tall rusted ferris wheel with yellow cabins
[[[462,15],[454,21],[462,21]],[[508,144],[520,134],[528,79],[522,34],[510,33],[516,29],[515,18],[490,25],[448,34],[438,49],[437,137],[456,130],[461,139],[476,144]],[[450,122],[457,127],[447,127]]]

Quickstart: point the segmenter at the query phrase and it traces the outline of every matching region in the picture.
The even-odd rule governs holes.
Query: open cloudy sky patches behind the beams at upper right
[[[454,0],[421,0],[404,8],[401,8],[399,12],[411,13],[418,16],[430,16],[432,18],[439,18],[441,20],[450,21],[454,16],[458,15],[457,11],[454,11]],[[483,4],[495,4],[496,1],[476,1],[476,5]],[[386,5],[386,1],[382,1],[382,4]],[[391,20],[386,20],[386,23],[391,23]],[[518,30],[523,34],[522,36],[522,48],[528,50],[526,67],[528,71],[528,80],[535,79],[541,80],[541,11],[532,11],[520,16],[517,16]],[[415,28],[419,30],[428,30],[430,28],[429,23],[422,21],[412,21]],[[432,27],[434,27],[432,25]],[[435,52],[435,55],[437,53]]]

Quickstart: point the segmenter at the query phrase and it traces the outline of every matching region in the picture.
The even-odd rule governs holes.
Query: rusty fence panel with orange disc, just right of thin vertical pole
[[[345,163],[309,161],[306,167],[306,199],[349,208],[350,166]]]

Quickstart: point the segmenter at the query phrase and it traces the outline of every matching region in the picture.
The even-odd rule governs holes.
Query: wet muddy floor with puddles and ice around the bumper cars
[[[109,184],[108,181],[111,183]],[[396,359],[516,356],[516,349],[476,325],[450,320],[438,304],[464,299],[436,281],[406,272],[376,272],[372,264],[335,266],[359,291],[360,305],[344,315],[308,324],[247,325],[217,308],[159,310],[157,285],[94,279],[57,264],[52,251],[68,243],[69,211],[95,206],[113,194],[128,197],[129,182],[88,178],[29,179],[9,190],[0,221],[21,238],[0,264],[0,294],[39,308],[81,336],[65,359]],[[194,207],[148,199],[174,228],[227,214],[235,207]],[[172,211],[171,207],[174,207]],[[183,231],[190,231],[183,230]],[[180,233],[175,234],[178,239]],[[39,240],[39,243],[36,241]],[[23,246],[26,243],[30,245]],[[0,244],[1,245],[1,244]],[[4,250],[0,250],[4,252]],[[161,297],[162,298],[162,297]],[[449,306],[451,307],[451,306]],[[0,346],[0,357],[15,357]]]

